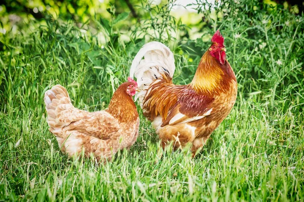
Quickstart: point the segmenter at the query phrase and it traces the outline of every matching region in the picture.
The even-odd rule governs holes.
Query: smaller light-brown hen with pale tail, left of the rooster
[[[129,148],[138,135],[139,117],[132,96],[137,83],[128,78],[113,94],[104,111],[87,112],[74,108],[66,89],[55,85],[46,91],[44,101],[49,130],[68,156],[91,154],[97,161],[110,160],[118,150]]]

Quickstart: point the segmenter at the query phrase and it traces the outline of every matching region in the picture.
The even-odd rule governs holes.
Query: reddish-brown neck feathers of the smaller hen
[[[138,117],[133,99],[127,93],[129,84],[129,82],[125,82],[120,85],[113,94],[108,109],[106,109],[113,117],[119,119],[119,122],[135,121]]]

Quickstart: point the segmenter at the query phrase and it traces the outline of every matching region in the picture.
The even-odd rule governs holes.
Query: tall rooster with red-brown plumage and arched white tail
[[[172,83],[174,57],[163,43],[146,43],[132,62],[130,77],[136,77],[139,88],[135,100],[163,148],[170,141],[175,149],[191,143],[195,156],[235,104],[237,80],[219,30],[211,42],[188,85]]]

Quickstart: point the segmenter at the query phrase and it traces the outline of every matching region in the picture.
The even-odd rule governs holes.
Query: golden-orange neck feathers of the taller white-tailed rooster
[[[197,93],[212,96],[227,90],[232,80],[236,81],[236,77],[230,64],[225,61],[221,65],[207,51],[199,63],[190,86]]]

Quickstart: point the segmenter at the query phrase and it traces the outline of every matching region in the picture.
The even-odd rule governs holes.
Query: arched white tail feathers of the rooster
[[[142,106],[143,98],[151,83],[156,79],[171,81],[175,71],[174,57],[170,49],[163,43],[152,41],[140,48],[130,69],[130,77],[137,79],[138,98]]]

